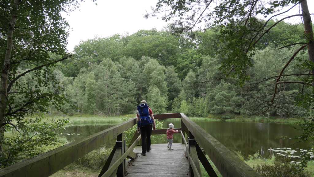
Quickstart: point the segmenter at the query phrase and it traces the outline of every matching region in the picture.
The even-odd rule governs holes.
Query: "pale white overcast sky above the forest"
[[[145,19],[146,10],[155,6],[158,0],[98,0],[97,5],[91,0],[81,3],[80,10],[65,15],[71,30],[68,37],[68,50],[71,52],[81,40],[97,37],[108,37],[113,34],[132,34],[138,30],[156,28],[161,30],[166,22],[157,19]],[[310,13],[314,13],[314,0],[308,0]],[[298,11],[298,8],[295,9]],[[295,13],[295,12],[291,12]],[[289,14],[288,14],[289,15]],[[313,17],[313,15],[312,15]],[[300,22],[300,18],[290,19],[290,23]]]

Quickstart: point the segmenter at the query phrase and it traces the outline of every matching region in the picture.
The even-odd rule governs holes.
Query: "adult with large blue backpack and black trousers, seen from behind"
[[[141,101],[141,104],[138,105],[136,116],[138,131],[141,131],[142,136],[142,155],[146,156],[146,152],[151,150],[150,134],[152,133],[152,128],[156,129],[156,125],[153,111],[145,100]]]

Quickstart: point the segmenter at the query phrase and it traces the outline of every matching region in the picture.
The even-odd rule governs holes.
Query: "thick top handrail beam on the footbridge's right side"
[[[199,146],[208,154],[222,176],[261,177],[261,175],[183,113],[181,113],[181,120],[188,130],[192,132]]]

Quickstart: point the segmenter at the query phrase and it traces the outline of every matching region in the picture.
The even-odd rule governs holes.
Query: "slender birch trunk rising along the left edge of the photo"
[[[6,108],[8,106],[8,75],[10,70],[10,64],[11,64],[11,52],[12,52],[12,46],[13,46],[13,31],[15,28],[16,18],[17,18],[17,11],[19,6],[19,0],[14,0],[13,6],[12,6],[12,14],[11,14],[11,20],[9,23],[9,29],[8,29],[8,36],[7,36],[7,49],[5,51],[5,57],[3,60],[3,67],[1,72],[1,88],[0,88],[0,157],[2,157],[2,145],[3,145],[3,135],[4,135],[4,129],[3,129],[3,123],[6,113]]]

